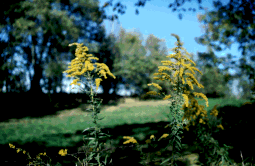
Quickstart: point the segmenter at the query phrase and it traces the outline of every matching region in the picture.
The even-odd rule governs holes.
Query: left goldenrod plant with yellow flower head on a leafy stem
[[[94,69],[95,69],[94,65],[91,62],[93,59],[98,60],[98,58],[93,57],[91,54],[86,54],[86,51],[88,51],[88,48],[85,46],[82,47],[82,44],[74,43],[74,44],[70,44],[69,46],[72,46],[72,45],[77,45],[77,49],[75,51],[76,58],[71,61],[71,66],[68,67],[70,69],[65,71],[65,73],[71,73],[71,74],[67,75],[67,77],[75,77],[76,78],[75,80],[73,80],[73,82],[70,85],[72,85],[72,84],[80,85],[80,83],[78,83],[78,81],[81,81],[81,80],[78,76],[81,76],[81,75],[84,75],[86,77],[86,79],[88,80],[88,82],[90,84],[90,92],[86,92],[86,93],[88,93],[91,98],[91,101],[88,100],[88,102],[91,103],[91,105],[92,105],[91,112],[92,112],[93,123],[95,124],[95,127],[90,127],[83,131],[83,132],[87,132],[88,136],[85,136],[84,139],[89,140],[88,146],[91,146],[93,148],[93,151],[91,152],[88,159],[87,158],[85,159],[85,164],[87,165],[89,163],[89,161],[91,161],[92,159],[95,158],[96,161],[98,162],[98,165],[103,166],[103,165],[106,165],[106,163],[107,163],[107,156],[106,156],[105,162],[101,163],[100,150],[101,150],[101,146],[103,143],[99,144],[99,142],[100,142],[100,139],[105,138],[105,137],[110,137],[110,135],[102,133],[100,126],[97,123],[97,120],[103,119],[103,118],[99,119],[97,116],[100,113],[99,106],[100,106],[102,100],[98,104],[98,106],[95,107],[95,103],[97,103],[97,102],[94,98],[94,94],[97,94],[97,93],[92,88],[92,85],[93,85],[92,80],[94,79],[96,73],[100,77],[104,76],[105,79],[107,79],[106,74],[110,75],[114,79],[116,77],[110,72],[108,66],[106,66],[103,63],[95,63],[96,71],[94,74],[91,74],[92,71],[94,71]],[[98,90],[98,87],[99,87],[101,81],[102,81],[101,78],[95,79],[96,90]],[[93,137],[93,135],[94,135],[94,137]],[[90,136],[92,136],[92,137],[90,137]],[[96,155],[96,157],[94,157],[95,155]],[[110,161],[110,163],[111,162],[112,162],[112,160]]]

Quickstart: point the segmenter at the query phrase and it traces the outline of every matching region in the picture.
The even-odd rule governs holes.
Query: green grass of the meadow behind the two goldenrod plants
[[[205,106],[205,100],[198,102],[199,105]],[[209,99],[209,107],[205,107],[205,109],[210,117],[210,110],[212,110],[216,104],[221,104],[221,106],[226,104],[241,105],[244,102],[246,102],[246,100]],[[123,130],[126,129],[126,134],[119,135],[117,138],[115,137],[113,142],[117,146],[117,144],[124,142],[122,139],[123,136],[135,137],[139,142],[148,139],[151,134],[157,134],[158,131],[153,129],[152,125],[146,127],[143,126],[143,124],[153,123],[153,125],[156,125],[158,122],[168,122],[168,118],[164,116],[164,113],[168,112],[168,105],[121,108],[118,111],[101,112],[99,118],[105,118],[98,121],[98,123],[102,128],[114,129],[116,126],[123,126]],[[50,147],[59,147],[60,150],[64,147],[80,145],[81,142],[83,142],[83,135],[77,134],[77,132],[93,126],[92,117],[88,114],[84,114],[83,116],[62,117],[62,119],[47,117],[26,120],[26,122],[16,124],[0,123],[0,144],[7,147],[9,143],[12,143],[19,148],[27,145],[27,143],[35,141],[43,142],[43,145],[38,146],[38,151],[40,152]],[[128,128],[125,125],[129,125],[130,127]],[[161,136],[163,133],[158,134]],[[109,141],[107,141],[107,143],[109,143]],[[27,150],[25,147],[22,149]],[[29,150],[27,151],[30,152]],[[77,161],[75,158],[74,160]]]

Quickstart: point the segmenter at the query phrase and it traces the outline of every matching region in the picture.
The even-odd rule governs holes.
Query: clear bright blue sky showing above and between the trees
[[[108,0],[100,1],[100,6],[103,6],[103,4],[107,1]],[[107,34],[113,32],[115,35],[117,35],[121,26],[127,32],[139,31],[143,35],[144,44],[146,38],[150,34],[153,34],[160,39],[165,39],[166,46],[168,47],[168,49],[171,49],[175,47],[174,43],[176,42],[176,39],[170,34],[175,33],[179,35],[181,41],[184,42],[183,47],[186,48],[189,53],[193,53],[195,55],[195,59],[197,57],[197,52],[206,52],[207,49],[205,46],[199,45],[195,42],[195,37],[200,37],[203,34],[201,24],[198,22],[197,19],[197,14],[204,14],[204,11],[197,10],[196,12],[182,12],[183,18],[182,20],[180,20],[178,17],[178,12],[172,12],[172,10],[168,8],[169,3],[173,1],[169,2],[168,0],[151,0],[147,1],[144,7],[139,7],[139,15],[136,15],[135,9],[137,7],[135,7],[134,4],[137,1],[138,0],[120,1],[122,4],[125,4],[127,6],[126,13],[123,15],[118,14],[120,24],[118,24],[117,21],[104,21],[103,24],[106,27]],[[117,2],[119,2],[119,0],[113,0],[113,4]],[[212,0],[203,0],[202,6],[207,7],[209,11],[212,10]],[[198,3],[197,1],[185,2],[185,5],[183,5],[183,7],[186,9],[188,9],[189,7],[195,7],[196,9],[198,9]],[[113,7],[106,8],[107,15],[116,14],[116,11],[113,13],[112,8]],[[169,54],[170,53],[171,52],[169,51]],[[227,53],[236,55],[237,59],[241,57],[241,52],[238,51],[238,44],[233,44],[230,50],[227,49],[226,51],[215,52],[217,57],[226,56]],[[219,67],[223,68],[223,66]],[[229,70],[229,72],[231,74],[235,73],[234,70]],[[67,86],[67,92],[70,91],[71,87],[68,86],[70,83],[71,82],[64,81],[64,84]],[[232,91],[236,95],[238,94],[238,90],[236,88],[237,84],[238,81],[234,81],[234,86],[232,89]],[[5,91],[5,88],[3,90]],[[72,92],[77,92],[77,89],[73,89]],[[102,91],[99,88],[98,93],[101,92]],[[121,90],[118,93],[120,95],[130,94],[130,92],[127,92],[125,90]]]

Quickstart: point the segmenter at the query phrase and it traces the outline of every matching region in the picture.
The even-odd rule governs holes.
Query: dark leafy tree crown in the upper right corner
[[[199,21],[207,26],[204,26],[205,34],[196,39],[198,43],[211,46],[216,51],[223,50],[222,46],[225,46],[224,49],[230,48],[234,40],[237,41],[239,49],[242,51],[242,58],[239,60],[240,64],[235,67],[238,67],[242,72],[238,72],[236,77],[241,78],[243,74],[248,76],[250,87],[255,85],[254,5],[254,1],[248,0],[230,1],[225,6],[221,2],[214,3],[215,11],[199,15]],[[246,60],[247,58],[248,60]],[[247,63],[249,61],[250,64]],[[231,63],[235,64],[236,62],[232,61]]]

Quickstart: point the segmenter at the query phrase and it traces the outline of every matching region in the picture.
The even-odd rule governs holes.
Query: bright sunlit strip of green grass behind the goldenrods
[[[205,105],[205,102],[198,101],[199,104]],[[234,103],[240,105],[246,100],[228,101],[219,99],[209,99],[209,107],[206,108],[208,115],[209,110],[213,108],[216,103],[229,104]],[[131,108],[121,108],[113,112],[101,112],[100,117],[105,117],[99,124],[102,126],[114,127],[123,124],[143,124],[148,122],[167,121],[165,114],[169,112],[168,106],[139,106]],[[29,122],[30,121],[30,122]],[[10,140],[22,138],[22,140],[44,140],[44,135],[57,134],[57,133],[73,133],[76,130],[82,130],[92,124],[92,118],[84,113],[83,116],[73,115],[70,117],[51,117],[41,119],[31,119],[26,123],[0,123],[0,144],[7,144]]]

